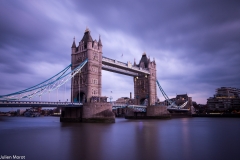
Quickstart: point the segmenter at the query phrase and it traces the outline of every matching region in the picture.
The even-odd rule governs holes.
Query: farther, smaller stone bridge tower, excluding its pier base
[[[146,53],[142,54],[139,64],[134,62],[134,66],[141,69],[149,70],[150,74],[142,74],[134,77],[134,98],[137,104],[153,105],[157,100],[157,86],[156,86],[156,63],[155,60],[150,61]]]

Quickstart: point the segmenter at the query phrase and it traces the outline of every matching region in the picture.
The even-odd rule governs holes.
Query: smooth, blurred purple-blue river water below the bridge
[[[240,118],[116,119],[0,117],[1,155],[29,160],[239,160]]]

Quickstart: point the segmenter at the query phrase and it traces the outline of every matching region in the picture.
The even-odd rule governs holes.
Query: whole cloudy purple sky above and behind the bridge
[[[1,0],[0,95],[68,66],[73,38],[78,43],[88,27],[93,39],[101,35],[103,56],[133,63],[146,52],[169,98],[187,93],[206,104],[216,88],[240,88],[239,6],[237,0]],[[113,100],[134,90],[132,77],[108,71],[102,83],[102,96]],[[69,91],[70,84],[51,99],[66,101]]]

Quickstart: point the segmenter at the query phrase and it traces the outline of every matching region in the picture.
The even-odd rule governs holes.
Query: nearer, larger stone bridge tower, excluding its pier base
[[[75,39],[71,54],[72,70],[88,58],[88,63],[71,82],[71,102],[90,102],[92,96],[101,96],[102,42],[93,40],[87,28],[76,47]]]

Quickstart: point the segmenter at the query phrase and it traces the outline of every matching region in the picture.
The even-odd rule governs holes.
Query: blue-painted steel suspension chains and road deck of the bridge
[[[104,57],[107,59],[106,57]],[[108,59],[107,59],[108,60]],[[106,60],[106,61],[107,61]],[[109,61],[109,60],[108,60]],[[108,62],[107,61],[107,62]],[[83,61],[78,67],[73,69],[70,72],[67,72],[69,68],[71,68],[71,64],[68,65],[65,69],[54,75],[53,77],[45,80],[44,82],[41,82],[35,86],[29,87],[27,89],[14,92],[11,94],[7,95],[1,95],[0,96],[0,107],[3,106],[14,106],[14,107],[21,107],[21,106],[43,106],[43,107],[56,107],[57,106],[62,106],[62,107],[69,107],[69,106],[82,106],[80,103],[68,103],[68,102],[34,102],[34,101],[16,101],[24,98],[29,98],[31,99],[34,96],[41,96],[45,93],[49,93],[55,89],[58,89],[60,86],[65,84],[67,81],[69,81],[72,77],[74,77],[77,73],[80,72],[82,67],[88,62],[88,59]],[[124,66],[126,67],[126,66]],[[145,70],[139,70],[139,72],[146,72]],[[174,109],[181,109],[183,108],[186,103],[184,103],[181,106],[177,106],[174,102],[172,102],[163,88],[161,87],[160,83],[158,80],[156,80],[156,83],[158,85],[158,88],[160,89],[162,95],[164,98],[168,101],[170,106],[168,106],[168,109],[174,108]],[[127,105],[127,104],[113,104],[113,109],[117,108],[133,108],[136,111],[140,112],[146,112],[146,106],[143,105]]]

